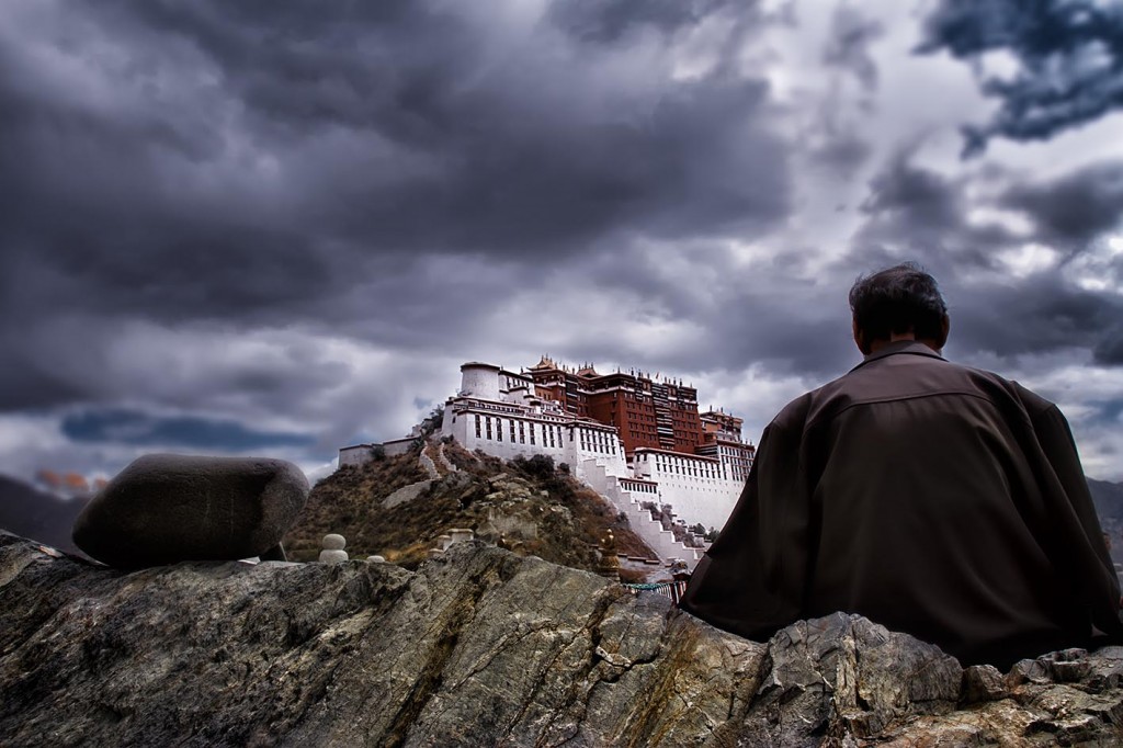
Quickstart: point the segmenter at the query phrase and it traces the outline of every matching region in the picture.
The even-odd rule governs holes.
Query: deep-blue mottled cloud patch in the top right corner
[[[924,25],[922,52],[947,49],[975,60],[1006,51],[1011,79],[986,77],[1001,101],[994,119],[965,129],[965,155],[992,136],[1051,137],[1123,106],[1123,7],[1094,0],[943,0]]]

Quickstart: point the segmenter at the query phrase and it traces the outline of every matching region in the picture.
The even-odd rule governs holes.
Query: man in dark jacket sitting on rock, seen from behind
[[[947,307],[913,264],[850,290],[865,361],[765,429],[682,606],[764,639],[859,613],[965,664],[1123,640],[1120,587],[1057,405],[940,352]]]

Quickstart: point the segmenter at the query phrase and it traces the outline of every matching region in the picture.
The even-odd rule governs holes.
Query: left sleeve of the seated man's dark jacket
[[[679,606],[720,629],[749,639],[765,640],[800,618],[795,600],[777,594],[765,582],[761,550],[761,487],[774,484],[770,474],[787,467],[779,454],[778,435],[765,429],[745,490],[718,539],[699,562]],[[769,500],[770,503],[770,500]]]

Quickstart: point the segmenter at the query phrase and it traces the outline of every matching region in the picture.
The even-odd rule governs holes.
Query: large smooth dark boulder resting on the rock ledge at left
[[[283,558],[281,539],[308,491],[301,469],[283,459],[146,455],[86,505],[74,542],[121,568]]]

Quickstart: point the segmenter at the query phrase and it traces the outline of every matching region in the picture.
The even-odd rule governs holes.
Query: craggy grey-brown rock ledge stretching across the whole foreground
[[[747,641],[477,542],[125,573],[0,535],[4,746],[1123,740],[1123,648],[996,674],[843,614]]]

